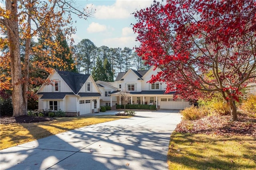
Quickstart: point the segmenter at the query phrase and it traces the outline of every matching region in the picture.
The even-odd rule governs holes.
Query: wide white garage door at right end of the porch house
[[[184,109],[190,106],[189,102],[185,102],[182,99],[173,101],[170,98],[162,98],[160,101],[160,109]]]

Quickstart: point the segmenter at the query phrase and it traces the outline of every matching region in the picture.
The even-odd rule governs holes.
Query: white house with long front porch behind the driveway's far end
[[[103,96],[100,98],[100,106],[122,104],[120,91],[126,89],[131,97],[130,104],[151,104],[160,109],[184,109],[190,107],[189,102],[183,99],[173,100],[175,92],[165,94],[166,83],[148,83],[152,75],[162,71],[160,68],[136,71],[133,69],[127,72],[120,72],[115,82],[97,81]]]

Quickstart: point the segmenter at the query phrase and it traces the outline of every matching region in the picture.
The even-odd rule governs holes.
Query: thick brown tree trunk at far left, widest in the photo
[[[6,10],[10,10],[10,18],[6,19],[9,41],[10,66],[12,74],[13,116],[26,115],[26,106],[22,93],[22,72],[20,62],[20,41],[17,17],[17,1],[6,0]]]

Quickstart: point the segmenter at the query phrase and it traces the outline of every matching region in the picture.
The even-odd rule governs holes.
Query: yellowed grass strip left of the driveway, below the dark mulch
[[[127,118],[127,116],[60,117],[48,122],[0,124],[0,149],[13,147],[80,127],[122,118]]]

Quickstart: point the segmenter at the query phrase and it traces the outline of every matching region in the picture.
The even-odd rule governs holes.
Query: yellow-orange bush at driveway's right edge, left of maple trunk
[[[187,107],[184,110],[181,110],[180,113],[182,114],[182,118],[184,120],[196,120],[204,117],[205,114],[198,109],[198,107]]]

